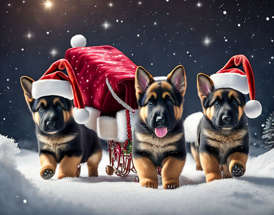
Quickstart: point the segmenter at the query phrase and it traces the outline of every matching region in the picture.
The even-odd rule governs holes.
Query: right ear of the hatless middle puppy
[[[168,81],[176,87],[182,96],[184,96],[187,88],[187,78],[182,65],[175,67],[167,76]]]

